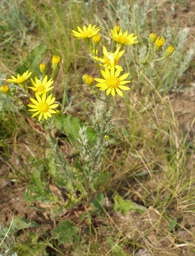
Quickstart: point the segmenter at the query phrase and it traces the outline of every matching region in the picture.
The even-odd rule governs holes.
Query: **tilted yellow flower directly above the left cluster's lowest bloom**
[[[51,89],[54,88],[54,86],[52,87],[49,87],[50,85],[53,84],[54,81],[51,81],[51,79],[49,79],[49,81],[47,81],[48,79],[48,76],[45,76],[43,78],[43,81],[41,83],[41,81],[35,76],[35,82],[33,81],[33,79],[31,78],[31,81],[34,85],[34,87],[29,87],[29,86],[26,86],[30,89],[32,89],[34,92],[36,92],[37,94],[41,95],[43,92],[48,92],[50,91]]]

